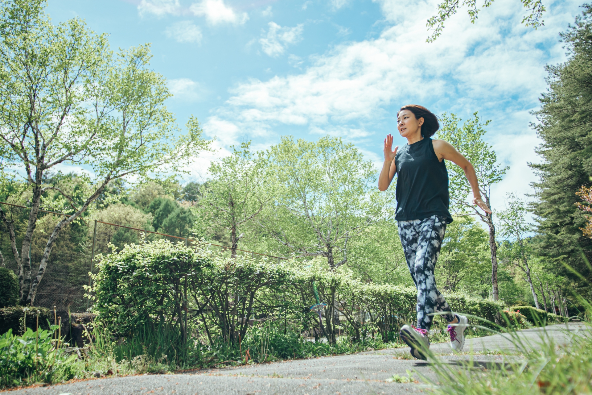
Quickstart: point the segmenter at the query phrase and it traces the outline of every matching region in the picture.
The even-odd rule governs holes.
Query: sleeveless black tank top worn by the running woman
[[[448,171],[444,160],[440,162],[432,139],[406,144],[397,151],[397,221],[423,220],[431,216],[445,216],[452,222],[448,211]]]

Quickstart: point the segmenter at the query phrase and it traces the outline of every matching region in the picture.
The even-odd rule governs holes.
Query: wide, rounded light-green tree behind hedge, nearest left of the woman
[[[378,194],[374,166],[353,144],[284,136],[269,160],[275,204],[260,223],[297,256],[323,256],[331,269],[346,264],[348,241],[388,212],[392,194]]]

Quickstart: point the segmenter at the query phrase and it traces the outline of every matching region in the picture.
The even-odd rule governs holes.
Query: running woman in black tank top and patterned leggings
[[[432,326],[433,313],[443,313],[448,321],[451,347],[461,351],[465,345],[466,316],[452,313],[436,288],[434,268],[440,255],[446,224],[452,222],[448,211],[448,171],[443,159],[461,166],[471,184],[473,204],[491,213],[479,192],[477,175],[471,163],[444,140],[432,140],[440,128],[437,117],[427,108],[411,104],[397,113],[397,129],[407,144],[392,149],[392,134],[384,139],[384,165],[378,178],[378,189],[386,191],[397,176],[397,220],[399,237],[407,266],[417,288],[417,327],[401,327],[401,338],[411,347],[411,355],[427,359],[425,351]]]

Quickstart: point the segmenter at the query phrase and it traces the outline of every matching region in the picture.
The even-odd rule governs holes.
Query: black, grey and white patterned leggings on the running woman
[[[417,288],[417,327],[430,329],[433,316],[448,311],[444,318],[455,319],[448,303],[436,289],[434,268],[440,255],[440,246],[446,231],[446,217],[431,216],[423,220],[398,221],[399,236],[407,266]]]

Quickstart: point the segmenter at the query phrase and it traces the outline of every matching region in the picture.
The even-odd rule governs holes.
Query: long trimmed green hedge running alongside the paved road
[[[128,245],[101,258],[94,276],[98,319],[118,336],[145,326],[168,328],[185,342],[192,333],[240,344],[249,326],[268,319],[294,325],[329,343],[398,338],[416,320],[417,290],[367,284],[349,272],[330,271],[321,259],[275,264],[246,256],[230,259],[166,240]],[[318,297],[318,300],[317,300]],[[502,304],[462,293],[445,295],[451,309],[493,326]],[[319,311],[320,314],[319,314]]]

